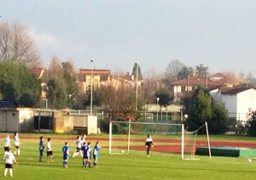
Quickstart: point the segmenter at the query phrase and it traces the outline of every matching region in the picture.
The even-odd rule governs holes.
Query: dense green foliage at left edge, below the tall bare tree
[[[0,61],[0,92],[3,99],[14,100],[20,106],[37,107],[41,85],[37,77],[25,65],[9,61]]]

